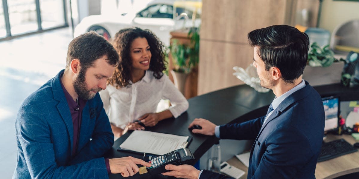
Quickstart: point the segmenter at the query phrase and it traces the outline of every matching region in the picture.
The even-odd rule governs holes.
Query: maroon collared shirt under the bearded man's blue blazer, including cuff
[[[61,74],[61,77],[63,74],[64,73]],[[84,100],[84,99],[78,97],[78,100],[74,101],[74,99],[71,97],[69,92],[67,92],[66,88],[64,87],[64,84],[62,84],[61,78],[60,78],[60,83],[61,83],[62,90],[64,91],[67,104],[69,105],[69,108],[70,108],[72,125],[74,127],[74,140],[73,140],[73,147],[72,147],[72,153],[71,153],[71,156],[74,156],[76,153],[79,135],[80,135],[82,110],[84,109],[87,100]],[[107,173],[111,174],[108,159],[105,159],[105,164],[106,164]]]

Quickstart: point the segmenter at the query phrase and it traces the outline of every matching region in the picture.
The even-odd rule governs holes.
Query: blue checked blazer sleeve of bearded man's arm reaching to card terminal
[[[104,158],[69,166],[57,166],[51,131],[35,105],[20,108],[16,135],[31,178],[108,178]]]

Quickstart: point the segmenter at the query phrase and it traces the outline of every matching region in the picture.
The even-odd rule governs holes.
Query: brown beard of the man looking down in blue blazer
[[[92,91],[99,92],[102,89],[101,88],[92,88],[87,89],[87,83],[85,80],[87,69],[80,69],[79,75],[76,77],[75,81],[72,82],[75,92],[77,95],[79,95],[80,98],[84,100],[91,100],[95,97],[96,93],[93,93]]]

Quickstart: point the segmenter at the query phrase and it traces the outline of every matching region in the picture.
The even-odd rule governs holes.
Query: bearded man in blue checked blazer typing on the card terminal
[[[13,178],[108,178],[132,176],[143,160],[105,159],[113,133],[98,94],[106,88],[119,56],[102,36],[89,32],[73,39],[61,70],[19,109]]]

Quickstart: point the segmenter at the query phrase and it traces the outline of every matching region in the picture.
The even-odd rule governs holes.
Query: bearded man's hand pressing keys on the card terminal
[[[139,171],[139,168],[136,164],[150,167],[151,164],[137,158],[123,157],[116,159],[108,159],[110,165],[111,173],[121,173],[122,176],[133,176]]]

